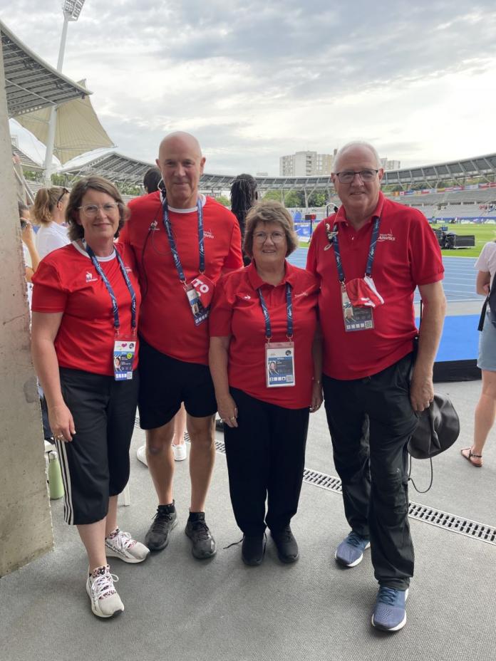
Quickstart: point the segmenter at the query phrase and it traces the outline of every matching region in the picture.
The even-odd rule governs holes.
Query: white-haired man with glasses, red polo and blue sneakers
[[[351,527],[335,558],[354,567],[371,547],[379,583],[372,624],[396,631],[413,576],[407,444],[433,400],[443,261],[423,214],[381,193],[384,171],[372,145],[341,147],[333,170],[342,206],[316,228],[306,268],[321,279],[324,400]]]

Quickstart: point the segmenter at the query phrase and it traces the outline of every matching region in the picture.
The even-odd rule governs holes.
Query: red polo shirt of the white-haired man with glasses
[[[373,216],[381,225],[372,277],[384,304],[373,309],[374,328],[346,333],[341,286],[326,224],[339,226],[339,250],[346,281],[363,278],[371,243],[372,218],[356,231],[344,207],[324,219],[311,239],[306,268],[321,278],[319,320],[324,335],[324,374],[343,380],[381,372],[412,350],[417,334],[413,309],[415,286],[443,279],[443,260],[435,234],[417,209],[379,194]]]

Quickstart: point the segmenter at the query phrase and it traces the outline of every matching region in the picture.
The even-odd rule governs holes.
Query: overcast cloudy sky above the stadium
[[[60,1],[0,0],[0,19],[56,65]],[[495,0],[86,0],[63,73],[150,162],[174,130],[226,174],[357,138],[405,166],[496,151]]]

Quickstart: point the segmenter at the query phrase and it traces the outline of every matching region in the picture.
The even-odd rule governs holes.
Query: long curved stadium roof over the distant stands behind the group
[[[75,165],[62,170],[73,177],[81,177],[96,173],[115,182],[140,184],[143,175],[153,163],[138,161],[110,152],[87,161],[83,165]],[[399,185],[405,189],[414,184],[423,184],[426,188],[433,188],[436,184],[454,179],[460,183],[465,179],[480,177],[487,181],[496,180],[496,154],[477,156],[474,158],[450,161],[438,165],[424,165],[422,167],[403,168],[385,172],[383,184]],[[230,187],[234,176],[209,175],[204,173],[200,179],[202,191],[221,191]],[[258,188],[265,190],[303,190],[311,193],[314,190],[330,191],[333,189],[329,175],[320,177],[255,177]]]

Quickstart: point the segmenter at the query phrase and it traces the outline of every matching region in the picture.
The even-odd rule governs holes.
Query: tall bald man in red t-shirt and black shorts
[[[208,368],[208,316],[215,282],[243,265],[241,234],[228,209],[198,192],[205,157],[195,137],[175,132],[160,143],[162,189],[130,202],[121,241],[133,248],[143,291],[140,323],[140,425],[158,496],[145,541],[167,546],[177,524],[172,495],[173,418],[184,402],[190,435],[191,503],[186,534],[195,558],[215,541],[205,499],[215,458],[215,392]]]

